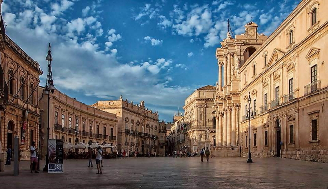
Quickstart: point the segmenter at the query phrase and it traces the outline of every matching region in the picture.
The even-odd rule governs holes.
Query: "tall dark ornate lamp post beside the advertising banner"
[[[43,171],[48,171],[48,164],[49,164],[49,130],[50,130],[50,92],[54,93],[55,92],[55,86],[53,84],[53,79],[52,79],[52,72],[51,72],[51,61],[52,61],[52,56],[51,56],[51,46],[49,43],[48,46],[48,55],[46,57],[46,60],[48,61],[48,75],[47,75],[47,81],[46,81],[46,89],[44,90],[44,94],[48,95],[48,127],[47,127],[47,156],[46,156],[46,165],[43,168]]]

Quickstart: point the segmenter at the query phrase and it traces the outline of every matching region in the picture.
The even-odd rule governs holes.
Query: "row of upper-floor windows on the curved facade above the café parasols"
[[[68,125],[68,129],[69,130],[72,130],[72,117],[69,117],[69,125]],[[55,112],[55,123],[58,124],[58,112],[56,111]],[[65,125],[65,115],[62,114],[62,127],[64,127]],[[99,133],[99,124],[96,125],[96,133],[95,134],[100,134]],[[79,117],[76,117],[76,120],[75,120],[75,131],[79,131]],[[103,135],[106,135],[106,126],[103,126]],[[86,122],[85,121],[82,121],[82,132],[86,132]],[[93,133],[93,124],[92,123],[89,123],[89,133],[92,134]],[[113,136],[114,135],[114,128],[110,128],[110,136]]]

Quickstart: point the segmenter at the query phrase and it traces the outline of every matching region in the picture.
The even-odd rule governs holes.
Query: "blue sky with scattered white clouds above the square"
[[[57,89],[86,104],[145,101],[171,121],[195,89],[215,85],[215,49],[251,20],[270,35],[301,0],[4,0],[7,35]],[[41,78],[45,85],[46,74]]]

